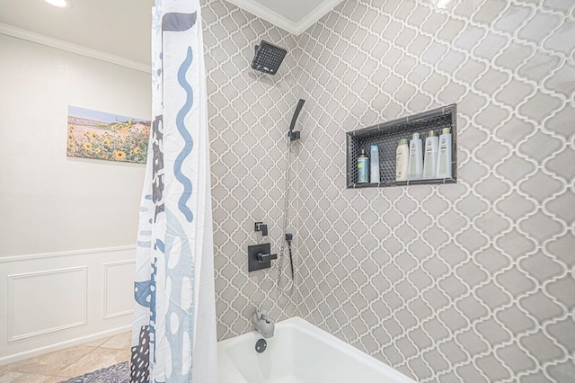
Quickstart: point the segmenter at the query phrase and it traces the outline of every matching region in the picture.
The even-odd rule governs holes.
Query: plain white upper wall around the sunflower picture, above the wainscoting
[[[0,35],[0,256],[136,242],[145,165],[66,157],[67,107],[151,116],[150,75]]]

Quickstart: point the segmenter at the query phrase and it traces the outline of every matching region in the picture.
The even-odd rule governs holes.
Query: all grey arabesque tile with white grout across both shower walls
[[[575,379],[575,3],[346,1],[300,36],[202,12],[219,339],[263,307],[420,382]],[[260,40],[288,49],[278,76],[249,68]],[[298,98],[285,292],[245,251],[283,242]],[[345,189],[346,131],[453,102],[457,184]]]

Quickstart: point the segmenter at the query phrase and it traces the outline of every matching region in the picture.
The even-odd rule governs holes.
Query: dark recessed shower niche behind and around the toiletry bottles
[[[386,121],[368,128],[349,131],[347,137],[347,188],[376,188],[416,184],[438,184],[457,182],[457,105],[451,104],[431,111],[423,111],[411,116]],[[396,149],[398,141],[411,139],[419,133],[422,141],[429,130],[439,136],[448,128],[451,133],[451,176],[433,179],[395,181]],[[358,156],[362,149],[369,154],[370,147],[376,145],[379,154],[379,183],[358,183]],[[425,148],[425,146],[424,146]]]

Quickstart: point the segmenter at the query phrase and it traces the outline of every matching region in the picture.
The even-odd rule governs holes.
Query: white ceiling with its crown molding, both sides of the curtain
[[[227,1],[299,34],[342,0]],[[72,4],[63,9],[43,0],[0,0],[0,33],[92,53],[87,56],[98,57],[103,52],[103,56],[121,58],[132,67],[149,69],[154,0],[72,0]]]

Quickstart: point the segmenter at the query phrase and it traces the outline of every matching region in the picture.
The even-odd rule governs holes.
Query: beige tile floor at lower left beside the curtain
[[[128,361],[131,333],[0,366],[0,383],[57,383]]]

